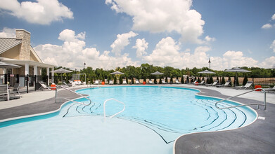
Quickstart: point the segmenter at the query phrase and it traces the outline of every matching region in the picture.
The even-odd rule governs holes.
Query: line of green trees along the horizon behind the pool
[[[55,69],[60,69],[62,66],[56,67]],[[68,69],[65,67],[62,67],[63,69]],[[275,77],[275,70],[272,69],[263,69],[259,67],[246,67],[243,66],[241,69],[246,69],[251,71],[251,73],[238,73],[238,77],[248,77],[248,78],[267,78],[267,77]],[[68,69],[70,70],[70,69]],[[124,73],[124,75],[121,76],[121,78],[127,78],[127,79],[153,79],[155,76],[152,76],[151,73],[155,71],[159,71],[161,73],[164,73],[162,76],[158,76],[158,78],[178,78],[183,75],[190,77],[203,77],[203,76],[209,76],[208,74],[202,74],[198,73],[200,71],[209,70],[208,67],[203,68],[196,68],[193,69],[176,69],[172,66],[153,66],[153,64],[141,64],[141,66],[125,66],[125,67],[117,67],[116,69],[110,69],[110,70],[104,70],[104,69],[93,69],[91,66],[88,66],[85,69],[81,69],[80,71],[76,70],[70,70],[72,73],[63,73],[63,76],[67,76],[70,78],[73,73],[86,73],[87,74],[87,80],[113,80],[116,78],[116,76],[111,75],[110,73],[113,73],[115,71],[120,71]],[[215,74],[211,76],[221,76],[221,77],[234,77],[235,73],[232,72],[226,72],[226,71],[217,71],[211,69],[211,71],[214,71]],[[46,74],[46,71],[44,70],[44,73]],[[61,76],[60,73],[56,73],[55,76]],[[83,78],[83,77],[82,77]]]

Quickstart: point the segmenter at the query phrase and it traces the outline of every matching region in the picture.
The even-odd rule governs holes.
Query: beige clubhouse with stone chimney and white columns
[[[25,29],[15,29],[15,38],[0,38],[0,60],[8,64],[17,64],[22,67],[18,69],[2,69],[0,68],[0,83],[6,82],[10,84],[20,83],[20,86],[25,86],[25,76],[31,76],[29,78],[30,83],[34,81],[32,76],[37,76],[41,79],[41,68],[46,68],[46,75],[48,76],[50,69],[53,70],[55,65],[45,64],[41,61],[37,53],[30,45],[30,32]],[[36,79],[36,80],[37,80]]]

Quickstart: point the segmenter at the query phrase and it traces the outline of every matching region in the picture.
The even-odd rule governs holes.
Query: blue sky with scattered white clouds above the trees
[[[0,37],[31,32],[48,64],[275,66],[273,0],[0,0]]]

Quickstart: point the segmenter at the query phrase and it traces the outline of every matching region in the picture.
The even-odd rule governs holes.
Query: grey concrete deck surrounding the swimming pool
[[[106,85],[103,85],[106,86]],[[108,86],[108,85],[107,85]],[[115,86],[115,85],[112,85]],[[195,85],[161,85],[175,87],[191,87],[200,90],[199,94],[212,97],[227,98],[241,94],[248,90],[234,90],[229,88],[205,87]],[[87,86],[77,86],[77,90]],[[263,92],[251,92],[234,101],[247,103],[262,103]],[[9,102],[0,102],[0,120],[27,116],[37,113],[56,111],[65,102],[55,103],[54,91],[37,91],[22,94],[22,98]],[[58,97],[77,98],[79,95],[67,90],[58,91]],[[260,117],[255,123],[237,130],[222,132],[203,132],[186,134],[175,142],[174,153],[274,153],[275,151],[275,94],[267,94],[267,110],[256,110]],[[251,106],[255,109],[255,106]]]

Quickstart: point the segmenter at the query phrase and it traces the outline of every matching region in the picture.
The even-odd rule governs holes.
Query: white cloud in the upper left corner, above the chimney
[[[53,21],[62,21],[64,18],[73,19],[70,8],[58,0],[23,1],[21,3],[18,0],[2,0],[0,10],[6,10],[6,13],[39,25],[49,25]]]

